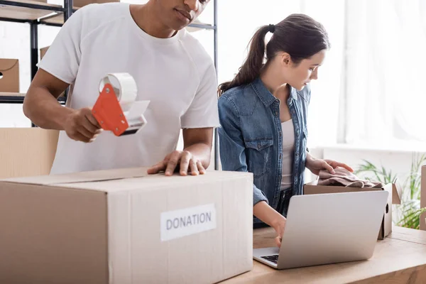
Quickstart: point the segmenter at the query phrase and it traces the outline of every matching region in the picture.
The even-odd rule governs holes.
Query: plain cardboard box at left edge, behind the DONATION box
[[[48,175],[58,136],[38,127],[0,129],[0,178]]]

